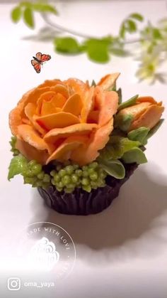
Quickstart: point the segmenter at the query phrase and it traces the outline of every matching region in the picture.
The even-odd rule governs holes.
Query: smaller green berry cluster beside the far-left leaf
[[[50,175],[45,174],[45,171],[42,170],[41,164],[38,164],[35,160],[29,161],[21,174],[23,176],[24,183],[31,184],[33,187],[47,188],[50,186]]]

